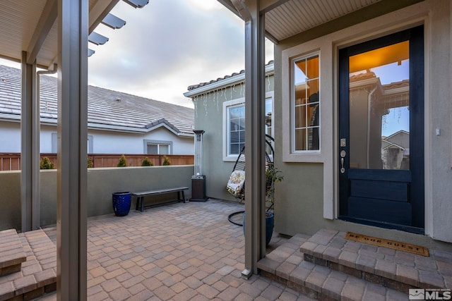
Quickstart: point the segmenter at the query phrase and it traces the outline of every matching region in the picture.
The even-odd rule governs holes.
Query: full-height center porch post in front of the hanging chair
[[[257,274],[266,253],[265,221],[265,31],[259,1],[246,1],[245,18],[245,270]],[[243,11],[242,11],[243,13]]]

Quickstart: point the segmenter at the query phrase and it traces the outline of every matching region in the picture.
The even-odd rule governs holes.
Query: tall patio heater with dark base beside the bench
[[[195,139],[195,173],[191,177],[190,202],[206,202],[206,176],[203,175],[203,130],[194,130]]]

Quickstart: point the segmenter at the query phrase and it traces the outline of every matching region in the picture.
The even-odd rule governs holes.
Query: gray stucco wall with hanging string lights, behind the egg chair
[[[273,87],[273,75],[266,77],[266,92]],[[237,201],[226,190],[235,161],[223,161],[223,103],[244,97],[244,83],[210,90],[194,97],[195,128],[203,134],[203,173],[206,175],[206,195]]]

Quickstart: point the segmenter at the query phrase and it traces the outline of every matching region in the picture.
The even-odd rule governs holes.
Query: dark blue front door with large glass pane
[[[340,219],[424,231],[423,32],[339,51]]]

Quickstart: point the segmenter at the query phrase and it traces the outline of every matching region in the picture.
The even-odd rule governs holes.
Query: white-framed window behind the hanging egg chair
[[[266,93],[265,113],[266,134],[273,137],[273,92]],[[223,161],[237,160],[244,145],[245,99],[223,102]],[[266,151],[270,154],[269,149]]]

